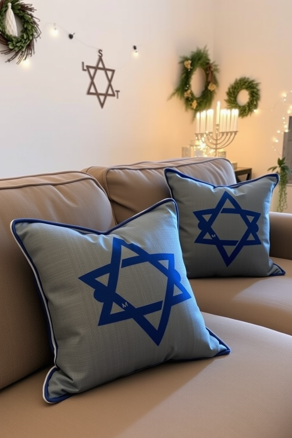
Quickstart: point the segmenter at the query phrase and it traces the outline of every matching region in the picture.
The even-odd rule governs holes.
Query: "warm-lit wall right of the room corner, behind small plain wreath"
[[[253,177],[267,173],[282,154],[283,137],[273,138],[288,106],[279,103],[288,92],[292,105],[292,55],[290,0],[214,1],[214,57],[220,64],[218,96],[236,78],[247,76],[260,82],[257,114],[239,119],[236,140],[226,149],[227,157],[239,166],[252,166]],[[274,205],[275,207],[275,205]],[[288,187],[288,209],[292,212],[292,187]]]

